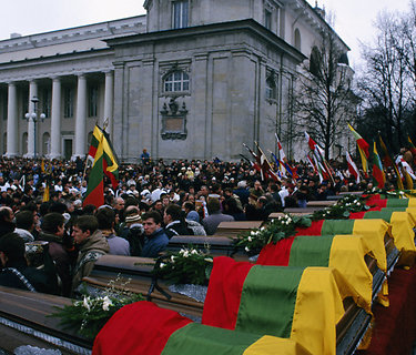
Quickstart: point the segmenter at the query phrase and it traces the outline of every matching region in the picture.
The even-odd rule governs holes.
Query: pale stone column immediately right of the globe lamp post
[[[51,152],[49,158],[61,158],[61,79],[52,79]]]

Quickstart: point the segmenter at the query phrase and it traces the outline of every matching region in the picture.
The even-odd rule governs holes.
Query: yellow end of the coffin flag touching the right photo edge
[[[393,212],[390,224],[394,243],[402,253],[399,265],[414,265],[416,247],[413,217],[407,212]]]

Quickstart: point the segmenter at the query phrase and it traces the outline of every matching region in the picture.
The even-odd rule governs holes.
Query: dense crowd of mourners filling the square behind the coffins
[[[81,160],[1,160],[0,285],[75,296],[104,254],[156,257],[175,235],[212,235],[223,221],[265,221],[271,212],[368,187],[339,166],[329,182],[303,163],[295,166],[297,179],[262,181],[244,160],[144,156],[120,166],[116,189],[104,178],[104,205],[94,206],[82,202]],[[41,261],[31,248],[41,250]]]

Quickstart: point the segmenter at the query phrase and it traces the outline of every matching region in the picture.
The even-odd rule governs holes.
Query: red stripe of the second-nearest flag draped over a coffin
[[[227,256],[214,258],[202,324],[235,328],[244,281],[253,265]]]

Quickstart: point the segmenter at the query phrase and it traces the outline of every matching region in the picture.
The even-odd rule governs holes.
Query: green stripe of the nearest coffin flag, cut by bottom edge
[[[241,355],[261,337],[190,323],[170,336],[162,355]]]

